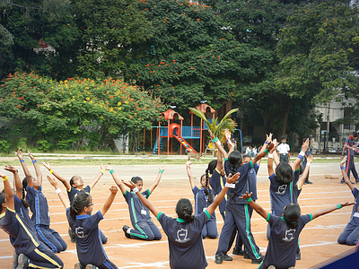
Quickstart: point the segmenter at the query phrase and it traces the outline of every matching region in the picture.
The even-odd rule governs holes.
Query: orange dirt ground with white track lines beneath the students
[[[356,167],[359,167],[358,163],[356,163]],[[113,165],[112,168],[115,169],[118,178],[142,177],[145,189],[153,183],[159,166]],[[86,185],[100,171],[100,166],[58,166],[53,167],[53,169],[68,179],[74,175],[79,175],[83,178]],[[199,178],[205,169],[206,164],[195,162],[192,165],[192,174],[198,185]],[[48,175],[47,169],[41,167],[41,170],[44,176]],[[33,172],[33,169],[31,169],[31,172]],[[341,202],[354,201],[349,188],[339,183],[339,173],[340,169],[337,162],[312,164],[310,180],[313,184],[305,185],[299,197],[302,213],[311,213]],[[326,175],[330,175],[333,178],[325,177]],[[21,176],[23,176],[22,172]],[[111,185],[114,185],[114,182],[109,172],[106,172],[97,186],[92,190],[93,202],[95,204],[94,211],[99,210],[102,204],[104,204],[109,195],[109,187]],[[267,211],[270,209],[268,187],[267,165],[262,165],[258,171],[258,204],[261,204]],[[65,192],[65,187],[62,187],[62,189]],[[76,247],[74,243],[70,242],[67,234],[68,224],[65,209],[58,200],[53,187],[49,185],[46,177],[44,177],[43,181],[43,192],[48,197],[51,215],[50,227],[60,233],[68,246],[67,250],[64,253],[58,254],[58,256],[64,261],[66,268],[73,268],[77,262]],[[154,190],[150,201],[163,213],[176,217],[175,205],[182,197],[187,197],[193,201],[185,169],[185,161],[183,165],[165,167],[162,181],[159,187]],[[316,265],[354,249],[354,247],[337,244],[337,237],[349,221],[351,210],[351,207],[346,207],[322,216],[306,225],[300,237],[302,260],[297,261],[296,268],[316,268]],[[153,222],[160,227],[160,223],[154,217]],[[115,202],[100,224],[101,230],[109,238],[108,243],[104,245],[109,260],[117,265],[118,268],[168,268],[169,249],[165,234],[162,234],[160,241],[146,242],[127,239],[121,229],[125,224],[129,226],[131,224],[129,213],[125,199],[118,191]],[[220,233],[223,227],[223,219],[219,212],[217,212],[217,225]],[[251,229],[262,254],[265,254],[267,247],[267,221],[254,212],[251,219]],[[161,227],[160,230],[162,230]],[[242,269],[247,269],[258,267],[258,265],[252,265],[249,259],[243,259],[242,256],[232,256],[232,262],[223,262],[222,265],[216,265],[215,251],[218,239],[205,239],[204,245],[208,261],[207,268],[238,268],[241,266]],[[11,268],[13,247],[9,242],[8,235],[3,230],[0,231],[0,252],[0,268]],[[232,249],[229,254],[232,255]]]

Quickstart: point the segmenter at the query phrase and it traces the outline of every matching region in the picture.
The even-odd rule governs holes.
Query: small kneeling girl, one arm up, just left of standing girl
[[[189,178],[189,184],[191,186],[192,192],[195,195],[195,215],[203,213],[206,208],[213,203],[215,199],[215,192],[208,186],[209,177],[208,174],[202,175],[200,184],[201,188],[197,188],[195,181],[193,180],[192,173],[190,170],[190,165],[192,161],[186,162],[187,175]],[[215,218],[215,212],[212,213],[211,218],[206,221],[206,225],[202,230],[202,237],[210,239],[216,239],[218,237],[217,222]]]

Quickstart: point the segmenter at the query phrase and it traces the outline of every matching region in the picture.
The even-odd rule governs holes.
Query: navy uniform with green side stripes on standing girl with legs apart
[[[229,199],[226,203],[225,220],[215,256],[226,254],[228,242],[237,228],[250,259],[257,260],[261,257],[259,247],[256,245],[250,230],[250,217],[253,209],[244,199],[240,198],[242,194],[249,190],[248,174],[253,167],[253,163],[250,161],[243,164],[236,171],[240,172],[240,178],[236,181],[235,188],[230,188],[227,193]],[[228,176],[231,169],[227,159],[224,161],[224,169]]]

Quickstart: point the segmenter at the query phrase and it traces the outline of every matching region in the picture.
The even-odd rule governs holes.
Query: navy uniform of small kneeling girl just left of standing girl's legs
[[[212,189],[210,191],[215,200],[215,192]],[[210,203],[208,203],[208,195],[205,194],[205,188],[202,187],[199,189],[195,186],[192,189],[192,192],[195,195],[195,215],[198,216],[200,213],[203,213],[206,210]],[[215,212],[212,213],[210,219],[206,221],[206,225],[203,227],[202,237],[206,238],[206,236],[208,236],[210,239],[216,239],[218,237]]]

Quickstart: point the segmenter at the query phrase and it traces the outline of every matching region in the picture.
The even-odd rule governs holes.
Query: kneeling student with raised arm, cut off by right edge
[[[346,228],[342,231],[337,239],[339,244],[345,244],[348,246],[354,246],[359,241],[359,190],[350,183],[349,177],[346,174],[346,168],[343,165],[346,163],[346,157],[340,162],[340,169],[346,185],[350,188],[352,194],[355,197],[355,205],[353,206],[352,215],[350,221],[346,224]]]

